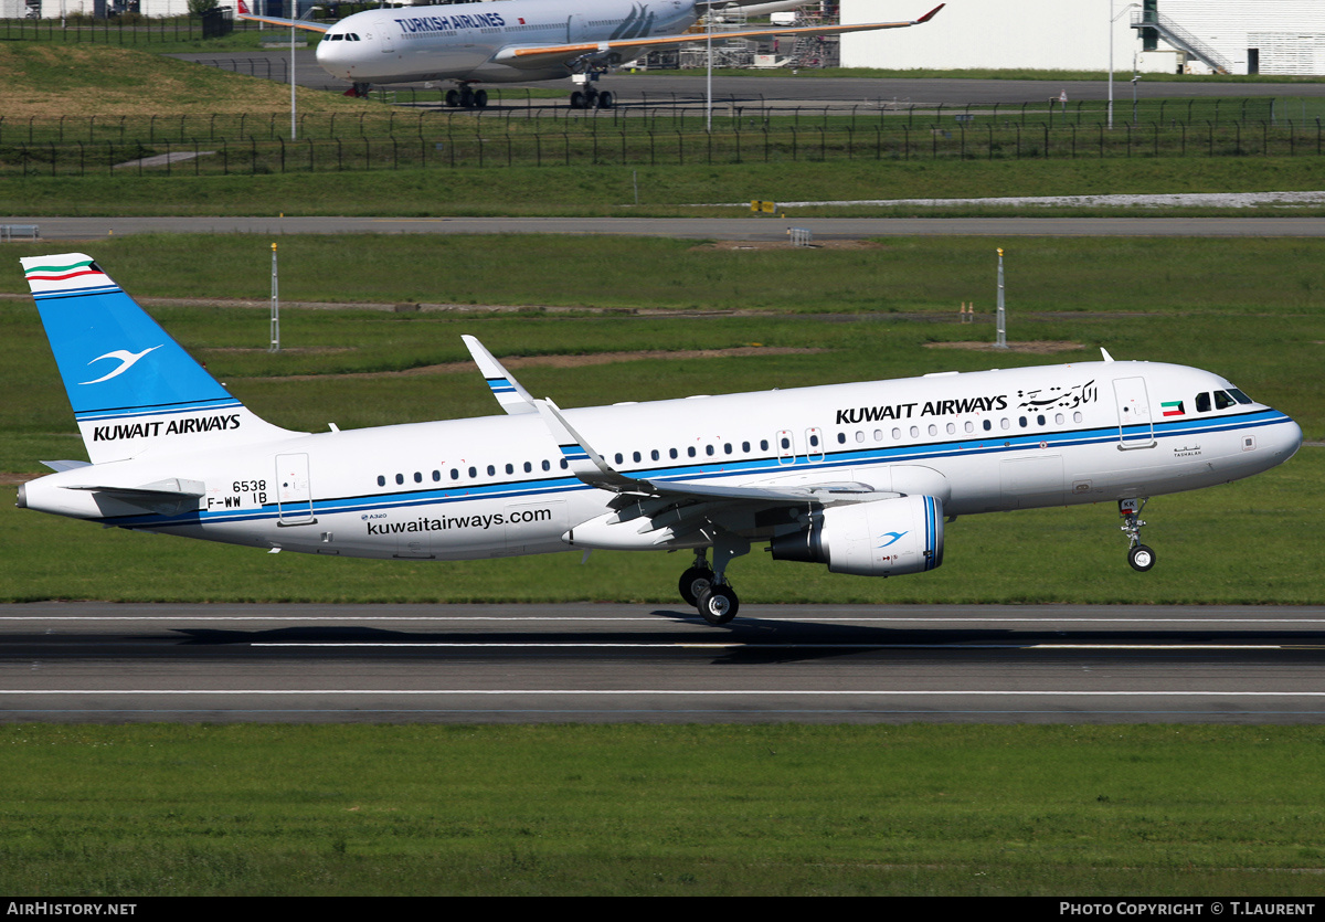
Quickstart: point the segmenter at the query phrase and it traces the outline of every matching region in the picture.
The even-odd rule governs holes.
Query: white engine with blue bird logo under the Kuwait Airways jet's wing
[[[897,497],[816,513],[810,527],[774,538],[774,560],[827,563],[835,574],[893,576],[943,562],[943,503]]]

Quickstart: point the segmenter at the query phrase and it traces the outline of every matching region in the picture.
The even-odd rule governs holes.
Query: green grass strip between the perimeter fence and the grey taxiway
[[[639,207],[635,183],[639,183]],[[374,216],[631,216],[704,217],[747,213],[751,200],[855,201],[982,196],[1104,195],[1113,192],[1261,192],[1316,189],[1314,158],[1192,158],[1146,160],[951,160],[750,163],[659,167],[411,168],[258,176],[0,178],[9,215],[374,215]],[[743,204],[739,204],[743,203]],[[798,208],[795,216],[1063,216],[1027,208]],[[1080,209],[1079,213],[1171,215],[1167,209]],[[1204,209],[1208,215],[1283,215],[1284,209]],[[1293,209],[1292,215],[1312,215]],[[761,219],[751,217],[751,221]],[[763,219],[775,220],[775,219]],[[751,224],[751,228],[758,228]],[[759,228],[765,230],[766,228]]]

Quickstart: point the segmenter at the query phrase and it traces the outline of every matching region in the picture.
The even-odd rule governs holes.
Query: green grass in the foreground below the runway
[[[0,890],[1314,896],[1321,744],[1313,727],[7,726]]]

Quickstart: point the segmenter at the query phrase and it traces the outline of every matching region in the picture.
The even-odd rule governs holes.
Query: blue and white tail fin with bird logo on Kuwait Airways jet
[[[295,435],[231,396],[90,256],[21,262],[93,464]]]

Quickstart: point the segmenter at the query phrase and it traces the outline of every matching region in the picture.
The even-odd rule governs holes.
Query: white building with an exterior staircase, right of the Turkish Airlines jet
[[[926,0],[843,0],[843,23],[914,19]],[[1133,29],[1146,16],[1157,29]],[[841,37],[844,68],[1108,70],[1223,68],[1325,74],[1322,0],[947,0],[925,25]]]

